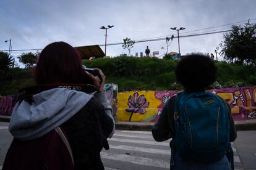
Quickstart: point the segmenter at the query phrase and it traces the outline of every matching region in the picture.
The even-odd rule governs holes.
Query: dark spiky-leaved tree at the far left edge
[[[0,73],[4,73],[6,70],[14,65],[14,58],[7,52],[0,51]]]

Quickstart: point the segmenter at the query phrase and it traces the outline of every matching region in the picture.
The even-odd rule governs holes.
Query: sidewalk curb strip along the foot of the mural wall
[[[0,121],[9,122],[10,116],[0,116]],[[116,123],[116,129],[129,130],[129,131],[151,131],[152,126],[155,123],[151,122],[127,122],[118,121]],[[237,131],[252,131],[256,130],[256,118],[247,119],[241,121],[235,121]]]

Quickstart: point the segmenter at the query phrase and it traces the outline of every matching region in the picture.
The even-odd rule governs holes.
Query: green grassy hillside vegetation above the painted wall
[[[106,83],[118,85],[119,92],[134,90],[173,90],[174,68],[178,60],[115,57],[112,59],[83,60],[88,68],[98,67],[106,75]],[[216,62],[218,83],[222,87],[255,86],[255,68],[226,62]],[[0,79],[0,95],[16,94],[20,87],[33,86],[32,68],[12,68]],[[209,89],[212,87],[209,87]]]

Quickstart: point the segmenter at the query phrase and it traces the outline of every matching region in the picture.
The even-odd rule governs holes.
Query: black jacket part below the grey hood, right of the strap
[[[108,149],[107,138],[113,125],[103,105],[94,97],[62,125],[74,156],[74,169],[104,169],[100,152],[103,147]]]

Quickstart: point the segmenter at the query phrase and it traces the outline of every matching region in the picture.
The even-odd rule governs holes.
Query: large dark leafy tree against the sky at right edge
[[[233,25],[231,33],[224,34],[221,55],[231,63],[256,64],[256,23],[248,20],[244,27]]]

